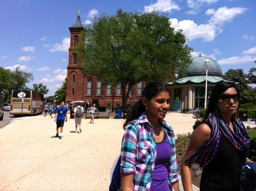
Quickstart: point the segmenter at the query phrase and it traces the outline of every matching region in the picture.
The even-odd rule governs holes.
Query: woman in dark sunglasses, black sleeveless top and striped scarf
[[[236,116],[239,98],[232,82],[219,82],[212,89],[206,116],[192,133],[182,161],[184,191],[192,191],[192,163],[203,168],[200,191],[240,190],[238,171],[250,161],[250,137]]]

